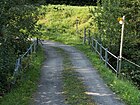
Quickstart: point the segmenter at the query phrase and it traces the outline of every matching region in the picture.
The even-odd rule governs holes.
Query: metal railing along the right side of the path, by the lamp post
[[[102,46],[102,44],[100,44],[94,37],[91,37],[91,33],[90,31],[88,31],[88,36],[87,36],[87,30],[84,29],[84,37],[83,37],[83,44],[85,44],[86,42],[88,42],[88,45],[90,45],[100,56],[100,58],[105,62],[105,65],[110,67],[116,74],[120,73],[120,62],[121,59],[119,56],[114,55],[112,52],[108,51],[108,48],[105,48]],[[115,67],[114,65],[112,65],[109,61],[109,57],[111,57],[113,59],[113,62],[115,62],[116,64]],[[122,57],[123,60],[129,62],[130,64],[134,65],[135,67],[138,67],[140,69],[140,66],[124,57]]]

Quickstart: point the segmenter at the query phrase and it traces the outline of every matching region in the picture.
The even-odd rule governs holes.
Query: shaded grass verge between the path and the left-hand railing
[[[0,105],[29,105],[32,94],[37,89],[40,68],[44,60],[43,49],[39,48],[38,52],[32,56],[31,66],[15,85],[15,88],[2,98]]]

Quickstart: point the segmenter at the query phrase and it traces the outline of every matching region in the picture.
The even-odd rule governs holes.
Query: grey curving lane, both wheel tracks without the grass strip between
[[[54,47],[62,48],[70,55],[72,64],[79,77],[86,86],[86,94],[90,95],[97,105],[124,105],[116,95],[106,86],[89,60],[74,47],[61,43],[44,41],[47,61],[42,69],[41,83],[35,97],[35,105],[64,105],[62,95],[62,59]]]

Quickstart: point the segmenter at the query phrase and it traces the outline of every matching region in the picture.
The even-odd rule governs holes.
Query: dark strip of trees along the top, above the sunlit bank
[[[97,0],[46,0],[48,4],[65,4],[65,5],[77,5],[77,6],[85,6],[85,5],[97,5]]]

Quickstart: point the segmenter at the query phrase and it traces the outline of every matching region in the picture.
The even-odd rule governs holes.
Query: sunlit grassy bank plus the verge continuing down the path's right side
[[[140,105],[140,91],[130,81],[117,78],[109,68],[105,67],[97,54],[91,51],[90,47],[81,44],[84,27],[90,28],[92,32],[97,30],[96,23],[92,20],[94,16],[91,15],[89,7],[49,5],[42,8],[46,10],[45,17],[40,20],[40,24],[43,24],[45,29],[42,31],[42,38],[69,44],[83,51],[92,62],[93,67],[99,71],[106,84],[126,104]],[[94,7],[90,8],[94,10]],[[80,33],[76,33],[76,17],[79,17],[80,20]],[[46,21],[44,22],[44,20]]]

